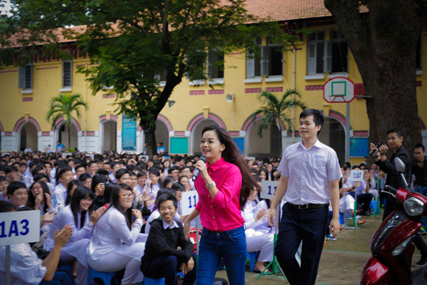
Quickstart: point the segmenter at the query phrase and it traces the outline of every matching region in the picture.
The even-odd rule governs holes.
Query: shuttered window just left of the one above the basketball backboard
[[[307,75],[323,73],[325,56],[325,32],[315,31],[308,36]]]

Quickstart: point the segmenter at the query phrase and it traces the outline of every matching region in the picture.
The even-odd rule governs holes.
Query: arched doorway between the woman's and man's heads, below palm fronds
[[[254,157],[280,157],[282,152],[282,134],[278,125],[268,125],[268,128],[263,130],[263,137],[258,135],[259,124],[251,123],[246,131],[246,149],[248,156]]]

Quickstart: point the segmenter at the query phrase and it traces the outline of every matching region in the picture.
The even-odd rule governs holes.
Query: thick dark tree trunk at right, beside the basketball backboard
[[[421,29],[413,0],[368,0],[368,14],[359,13],[359,0],[325,0],[325,6],[346,39],[366,95],[371,97],[365,98],[369,142],[386,144],[387,130],[400,128],[411,152],[413,145],[422,142],[416,100],[416,42]]]

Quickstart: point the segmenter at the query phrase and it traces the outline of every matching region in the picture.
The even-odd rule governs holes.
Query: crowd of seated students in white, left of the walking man
[[[198,160],[197,155],[154,155],[149,160],[130,154],[3,155],[0,212],[41,212],[41,241],[32,247],[11,246],[12,259],[21,259],[20,264],[11,266],[12,284],[67,284],[67,276],[62,272],[55,274],[58,264],[75,264],[75,284],[88,284],[90,268],[124,270],[122,284],[135,284],[144,275],[156,277],[153,260],[171,254],[178,264],[174,270],[184,270],[186,284],[194,284],[193,244],[177,233],[172,235],[173,240],[170,234],[162,240],[149,238],[149,233],[155,229],[158,236],[162,234],[160,229],[182,227],[186,217],[181,215],[179,206],[181,193],[195,190],[191,176]],[[276,170],[278,159],[247,162],[259,184],[261,180],[280,177]],[[167,214],[162,212],[162,203],[169,205]],[[255,271],[263,271],[273,259],[274,228],[268,226],[265,218],[269,204],[254,189],[242,210],[247,250],[260,252]],[[167,223],[171,214],[171,224],[157,222],[162,218]],[[177,246],[181,251],[176,250]],[[4,254],[1,247],[0,258]],[[161,260],[159,264],[167,262],[170,260]],[[4,278],[1,266],[0,283]],[[169,284],[175,281],[176,277]],[[73,282],[70,280],[70,284]]]

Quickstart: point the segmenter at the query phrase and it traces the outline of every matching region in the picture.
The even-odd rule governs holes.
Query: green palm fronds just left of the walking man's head
[[[307,108],[305,103],[295,97],[301,98],[301,94],[295,89],[286,90],[282,98],[277,98],[274,94],[265,91],[257,95],[262,106],[251,114],[251,120],[255,121],[260,117],[260,120],[255,123],[259,124],[257,133],[260,138],[263,137],[263,130],[266,130],[268,125],[279,123],[280,130],[282,125],[288,126],[288,130],[293,130],[293,120],[287,113],[292,108],[299,107],[302,110]]]

